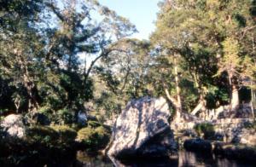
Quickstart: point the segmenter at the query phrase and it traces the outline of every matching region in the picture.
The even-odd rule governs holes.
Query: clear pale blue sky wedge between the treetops
[[[99,0],[109,9],[129,19],[137,27],[138,33],[132,37],[148,39],[154,31],[154,21],[158,12],[157,3],[160,0]]]

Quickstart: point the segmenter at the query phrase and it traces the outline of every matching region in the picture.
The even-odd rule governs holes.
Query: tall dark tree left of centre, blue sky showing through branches
[[[80,99],[80,107],[83,107],[83,102],[88,99],[83,98],[83,94],[81,94],[83,92],[80,89],[89,89],[90,72],[96,61],[108,56],[113,51],[113,40],[125,37],[127,34],[134,32],[135,28],[128,20],[96,1],[86,1],[86,3],[76,0],[65,1],[63,9],[58,7],[58,3],[48,3],[47,5],[56,15],[60,26],[55,29],[55,32],[52,32],[46,60],[56,58],[57,61],[61,62],[62,66],[59,65],[59,71],[64,72],[67,78],[70,79],[68,85],[75,82],[72,79],[74,73],[80,75],[81,81],[77,80],[76,82],[77,94],[73,94],[72,88],[74,86],[66,89],[67,93],[70,94],[67,99],[67,107],[72,107],[77,99]],[[92,10],[102,14],[103,19],[99,24],[94,25],[92,23],[92,18],[90,18]],[[81,53],[96,55],[90,61],[90,66],[84,66],[84,69],[79,66],[81,63],[79,54]]]

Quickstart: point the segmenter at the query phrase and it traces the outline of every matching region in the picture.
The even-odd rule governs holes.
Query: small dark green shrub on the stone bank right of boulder
[[[204,139],[212,139],[215,134],[213,125],[209,123],[196,124],[194,129],[197,135],[202,136]]]

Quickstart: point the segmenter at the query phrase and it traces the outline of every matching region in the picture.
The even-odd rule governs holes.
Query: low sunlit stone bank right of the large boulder
[[[253,119],[192,119],[176,127],[172,130],[179,149],[234,160],[254,162],[256,159],[256,123]]]

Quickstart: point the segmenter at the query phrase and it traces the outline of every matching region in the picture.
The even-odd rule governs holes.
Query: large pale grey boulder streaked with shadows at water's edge
[[[175,153],[168,119],[171,117],[164,98],[144,97],[130,101],[113,127],[108,155],[114,158],[164,157]]]

